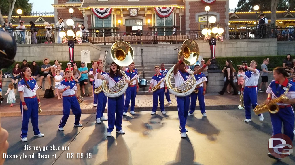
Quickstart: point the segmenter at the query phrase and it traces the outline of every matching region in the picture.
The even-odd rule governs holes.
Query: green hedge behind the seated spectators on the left
[[[22,65],[22,62],[15,62],[15,63],[13,63],[9,68],[4,68],[4,69],[2,70],[2,73],[3,73],[3,74],[4,74],[4,73],[12,73],[12,69],[14,68],[14,66],[15,66],[16,63],[19,63],[19,67]],[[31,65],[32,62],[28,62],[28,63],[29,63],[29,65]],[[37,64],[39,65],[39,67],[40,67],[39,73],[42,73],[42,72],[41,72],[41,66],[43,65],[43,62],[42,62],[42,61],[36,61],[36,63],[37,63]],[[68,61],[59,61],[59,63],[62,63],[61,68],[62,68],[63,70],[65,70],[65,68],[68,68],[68,66],[67,66]],[[78,68],[80,68],[80,67],[81,67],[81,61],[76,61],[76,63],[77,63]],[[50,65],[54,65],[54,60],[53,60],[53,61],[50,60],[50,63],[49,63],[49,64],[50,64]],[[73,66],[72,66],[72,67],[73,67]],[[88,68],[88,71],[90,70],[90,68],[92,68],[91,63],[87,64],[87,68]]]

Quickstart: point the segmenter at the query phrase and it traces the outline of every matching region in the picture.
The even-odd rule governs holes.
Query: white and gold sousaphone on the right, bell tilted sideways
[[[186,65],[194,65],[199,58],[199,46],[193,39],[187,39],[181,45],[181,50],[178,53],[178,59],[183,56],[183,63]],[[175,65],[174,65],[175,66]],[[170,93],[175,96],[184,97],[190,95],[196,88],[196,78],[192,70],[187,69],[190,74],[190,79],[181,84],[178,87],[173,87],[171,84],[171,78],[173,77],[174,66],[168,71],[165,78],[167,88]]]

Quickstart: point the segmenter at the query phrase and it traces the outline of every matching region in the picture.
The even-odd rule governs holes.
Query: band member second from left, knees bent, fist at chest
[[[80,124],[81,118],[81,108],[78,103],[78,92],[77,85],[74,80],[72,80],[71,71],[65,71],[65,80],[61,81],[58,91],[63,93],[63,117],[60,120],[60,124],[58,125],[58,130],[63,131],[63,127],[67,122],[70,110],[72,109],[73,114],[75,115],[75,127],[82,127]]]

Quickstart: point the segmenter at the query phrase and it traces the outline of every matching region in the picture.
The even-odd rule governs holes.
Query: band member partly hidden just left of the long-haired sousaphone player
[[[99,60],[97,63],[102,63],[101,60]],[[101,86],[102,84],[102,80],[97,79],[97,74],[98,73],[98,69],[96,71],[93,72],[93,76],[94,76],[94,89],[96,89],[97,87]],[[100,72],[101,75],[106,74],[104,71],[101,70]],[[108,120],[107,118],[104,117],[104,110],[106,109],[106,100],[107,97],[104,95],[104,92],[99,92],[99,94],[95,94],[94,98],[96,98],[96,123],[99,124],[102,121]]]

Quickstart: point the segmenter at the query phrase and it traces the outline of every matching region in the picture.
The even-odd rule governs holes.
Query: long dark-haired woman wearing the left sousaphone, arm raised
[[[97,64],[94,65],[94,68],[97,68]],[[109,82],[109,88],[112,88],[117,82],[119,82],[124,76],[117,69],[120,68],[116,63],[111,64],[109,73],[106,74],[97,74],[97,79],[106,80]],[[102,63],[98,65],[98,73],[102,70]],[[125,80],[126,83],[130,83],[129,80]],[[106,136],[111,137],[114,126],[116,125],[116,132],[119,134],[125,134],[122,130],[122,118],[124,110],[124,95],[114,98],[108,98],[108,129]]]

